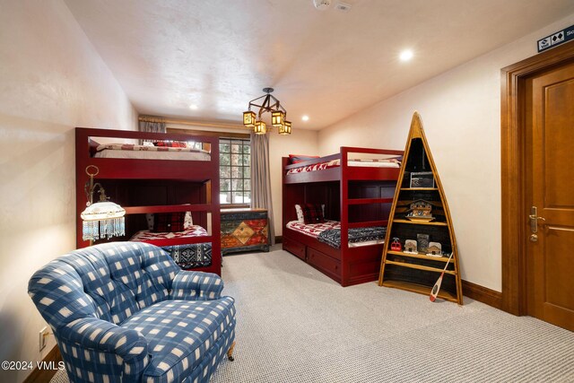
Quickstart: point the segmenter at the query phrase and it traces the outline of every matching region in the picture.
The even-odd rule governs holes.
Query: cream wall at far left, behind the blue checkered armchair
[[[41,360],[31,274],[75,248],[74,126],[135,109],[61,0],[0,0],[0,361]],[[22,381],[30,370],[0,370]]]

